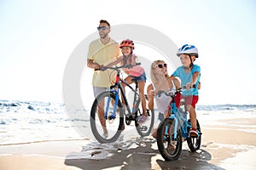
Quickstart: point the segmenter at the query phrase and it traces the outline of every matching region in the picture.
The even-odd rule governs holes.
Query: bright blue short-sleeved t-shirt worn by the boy
[[[179,77],[181,80],[181,86],[185,86],[187,83],[191,82],[192,80],[192,75],[194,74],[195,71],[200,72],[201,68],[199,65],[193,65],[192,70],[187,74],[183,68],[183,66],[180,66],[177,68],[176,71],[173,72],[174,77]],[[182,94],[184,96],[188,95],[198,95],[198,82],[200,81],[201,74],[199,75],[198,79],[195,82],[196,87],[191,88],[190,90],[183,90]]]

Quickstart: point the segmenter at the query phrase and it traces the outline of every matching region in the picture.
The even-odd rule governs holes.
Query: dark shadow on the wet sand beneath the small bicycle
[[[129,141],[127,141],[129,142]],[[91,159],[66,159],[67,166],[79,167],[81,169],[223,169],[217,167],[207,161],[212,159],[210,153],[206,150],[197,150],[195,153],[189,150],[182,150],[182,154],[177,161],[164,161],[158,150],[152,149],[155,143],[154,139],[141,140],[136,149],[130,150],[108,150],[112,156],[104,160]],[[152,157],[159,156],[156,161],[152,161]],[[154,159],[155,160],[155,159]],[[152,161],[152,162],[151,162]],[[158,166],[157,166],[158,165]]]

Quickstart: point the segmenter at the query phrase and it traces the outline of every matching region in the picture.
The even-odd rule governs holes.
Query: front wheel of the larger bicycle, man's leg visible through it
[[[113,92],[99,94],[90,111],[90,127],[96,140],[111,143],[119,138],[124,129],[124,111]]]

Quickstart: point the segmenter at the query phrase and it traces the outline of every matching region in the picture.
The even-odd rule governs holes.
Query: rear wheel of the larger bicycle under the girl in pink
[[[140,102],[137,102],[136,105],[136,117],[142,116],[142,106],[140,105]],[[148,119],[146,122],[143,122],[142,124],[137,122],[137,118],[135,120],[135,126],[137,129],[137,133],[141,135],[142,137],[148,136],[151,134],[152,128],[154,126],[154,110],[147,110]]]

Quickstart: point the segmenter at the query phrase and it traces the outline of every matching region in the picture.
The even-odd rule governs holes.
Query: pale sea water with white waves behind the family
[[[201,126],[225,123],[217,120],[256,117],[256,105],[198,105],[196,111]],[[79,125],[91,131],[90,108],[74,108],[73,114],[77,116],[67,114],[65,105],[59,103],[0,100],[0,145],[90,139],[76,130]]]

